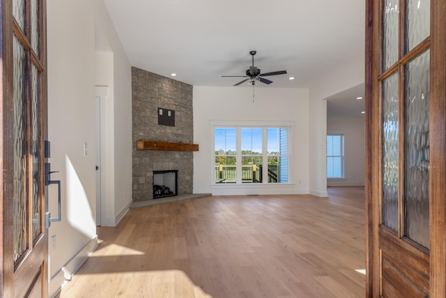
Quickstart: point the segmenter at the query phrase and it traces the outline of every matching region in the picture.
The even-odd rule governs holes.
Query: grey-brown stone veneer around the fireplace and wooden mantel
[[[133,200],[153,199],[153,170],[178,170],[178,195],[192,193],[193,152],[137,150],[139,140],[192,143],[192,85],[132,67]],[[175,111],[158,125],[157,109]]]

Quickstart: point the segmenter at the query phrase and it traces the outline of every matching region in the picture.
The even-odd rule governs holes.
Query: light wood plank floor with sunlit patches
[[[364,188],[132,209],[59,297],[365,297]]]

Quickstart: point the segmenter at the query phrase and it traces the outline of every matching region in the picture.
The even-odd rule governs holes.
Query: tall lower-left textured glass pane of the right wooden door
[[[399,188],[398,73],[383,82],[383,223],[398,230]]]

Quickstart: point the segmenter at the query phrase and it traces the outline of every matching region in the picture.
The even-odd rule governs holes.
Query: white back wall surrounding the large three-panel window
[[[308,89],[256,87],[194,87],[194,193],[214,195],[309,192]],[[212,185],[213,140],[211,121],[245,124],[291,122],[291,175],[289,184]],[[325,121],[325,119],[324,119]]]

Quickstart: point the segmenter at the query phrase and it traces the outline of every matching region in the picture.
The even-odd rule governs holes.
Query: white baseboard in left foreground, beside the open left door
[[[48,296],[55,297],[68,281],[71,280],[72,275],[84,264],[90,257],[91,253],[98,247],[98,236],[90,239],[84,247],[74,257],[69,260],[59,271],[51,276],[48,281]]]

